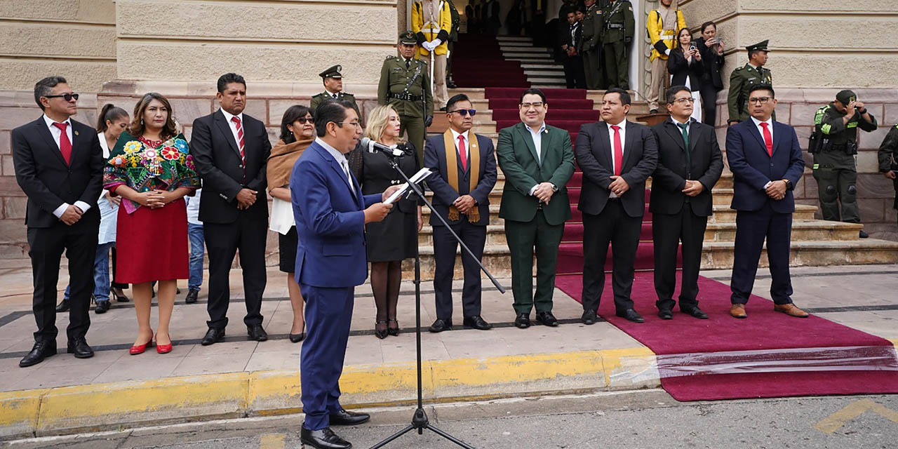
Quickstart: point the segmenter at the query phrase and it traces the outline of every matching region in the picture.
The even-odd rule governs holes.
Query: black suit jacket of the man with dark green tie
[[[657,214],[676,214],[689,198],[693,214],[710,216],[714,208],[711,188],[724,170],[723,154],[720,153],[714,128],[690,119],[689,168],[686,167],[686,145],[682,141],[682,132],[671,119],[652,127],[652,133],[658,141],[658,165],[652,174],[652,198],[648,210]],[[682,193],[686,180],[698,180],[705,189],[694,197],[687,197]]]

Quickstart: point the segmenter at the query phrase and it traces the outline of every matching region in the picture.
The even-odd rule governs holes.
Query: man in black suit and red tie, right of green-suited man
[[[626,120],[629,94],[612,88],[602,98],[601,122],[580,127],[574,154],[583,171],[577,209],[583,212],[583,316],[595,322],[605,285],[608,243],[612,245],[614,308],[618,316],[643,322],[629,294],[642,216],[646,208],[646,179],[658,159],[652,131]]]

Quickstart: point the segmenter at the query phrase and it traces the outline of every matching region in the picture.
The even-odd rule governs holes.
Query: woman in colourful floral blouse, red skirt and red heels
[[[154,344],[150,327],[154,281],[159,282],[156,352],[172,351],[172,319],[177,279],[189,277],[185,195],[199,188],[187,141],[178,133],[172,105],[150,92],[134,108],[134,119],[110,153],[103,188],[119,195],[116,246],[119,280],[134,285],[137,338],[132,355]]]

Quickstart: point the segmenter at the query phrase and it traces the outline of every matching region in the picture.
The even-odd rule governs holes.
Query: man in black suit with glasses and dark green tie
[[[682,242],[680,312],[707,319],[699,308],[701,245],[713,213],[711,189],[723,172],[714,128],[691,119],[694,104],[688,87],[667,90],[671,118],[652,127],[658,142],[658,165],[652,174],[652,241],[655,246],[655,292],[658,316],[674,318],[677,246]]]

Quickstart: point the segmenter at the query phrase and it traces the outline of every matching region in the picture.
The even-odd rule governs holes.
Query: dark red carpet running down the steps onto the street
[[[491,51],[488,40],[477,45]],[[475,40],[471,40],[474,42]],[[495,40],[492,41],[495,45]],[[496,46],[496,51],[498,50]],[[460,53],[461,55],[461,53]],[[502,61],[500,72],[510,69]],[[519,66],[518,66],[519,68]],[[456,72],[458,73],[458,72]],[[508,72],[506,72],[508,73]],[[520,72],[523,75],[523,70]],[[497,131],[520,122],[518,101],[523,87],[508,76],[507,84],[472,80],[471,87],[486,87]],[[504,87],[497,87],[504,86]],[[544,89],[549,112],[546,121],[568,130],[571,143],[584,123],[599,119],[593,101],[582,89]],[[555,285],[577,301],[583,289],[583,217],[577,210],[582,172],[568,181],[571,219],[559,246]],[[646,191],[648,203],[649,191]],[[730,290],[726,284],[701,277],[699,301],[709,320],[674,313],[673,321],[656,315],[652,269],[651,214],[646,207],[636,257],[632,298],[646,322],[637,324],[614,315],[611,250],[605,264],[605,289],[598,313],[657,355],[661,385],[677,401],[768,398],[823,394],[898,393],[898,357],[888,340],[854,330],[817,316],[807,319],[773,312],[770,300],[753,296],[749,318],[729,316]],[[679,273],[678,273],[679,275]],[[679,284],[679,282],[678,282]],[[675,297],[675,295],[674,295]]]

